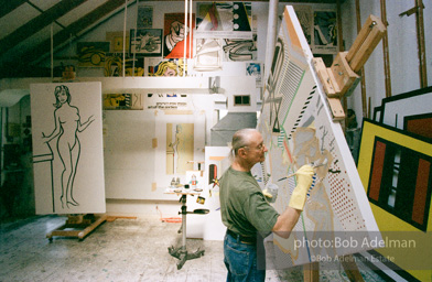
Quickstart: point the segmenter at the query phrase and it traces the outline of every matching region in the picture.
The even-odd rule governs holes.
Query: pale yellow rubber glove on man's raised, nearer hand
[[[307,191],[312,185],[313,174],[313,167],[309,164],[303,165],[295,172],[298,185],[292,192],[290,203],[288,204],[290,207],[303,210],[304,204],[306,203]]]

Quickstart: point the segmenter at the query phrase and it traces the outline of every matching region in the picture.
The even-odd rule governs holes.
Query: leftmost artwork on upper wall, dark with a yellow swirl
[[[109,42],[78,42],[79,67],[104,67],[105,54],[109,52]]]

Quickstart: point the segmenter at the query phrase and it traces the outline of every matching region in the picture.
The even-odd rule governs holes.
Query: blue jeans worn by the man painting
[[[262,243],[262,239],[258,239]],[[224,262],[228,270],[227,282],[255,282],[266,280],[266,265],[261,265],[261,258],[266,260],[263,245],[244,243],[231,235],[224,239]],[[259,246],[257,248],[257,245]],[[257,262],[258,256],[260,257]]]

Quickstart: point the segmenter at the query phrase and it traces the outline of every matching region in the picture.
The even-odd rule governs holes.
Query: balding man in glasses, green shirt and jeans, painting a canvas
[[[303,210],[314,172],[312,166],[303,165],[295,173],[298,185],[289,207],[278,214],[250,173],[256,163],[266,159],[261,133],[241,129],[234,134],[231,147],[231,166],[219,181],[222,220],[227,227],[224,240],[227,281],[264,281],[266,269],[258,267],[257,246],[263,248],[262,238],[271,231],[283,238],[290,236]]]

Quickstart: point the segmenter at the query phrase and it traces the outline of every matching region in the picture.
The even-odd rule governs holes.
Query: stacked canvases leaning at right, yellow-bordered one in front
[[[377,251],[429,281],[432,230],[432,87],[400,94],[364,120],[358,172],[385,248]]]

